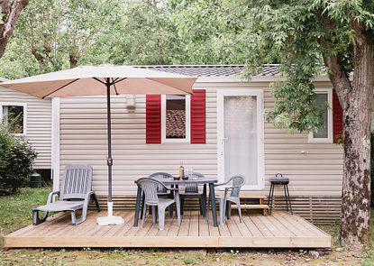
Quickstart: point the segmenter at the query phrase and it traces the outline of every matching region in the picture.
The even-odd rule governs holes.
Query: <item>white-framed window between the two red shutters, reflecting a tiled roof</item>
[[[189,142],[190,96],[161,96],[161,142]]]

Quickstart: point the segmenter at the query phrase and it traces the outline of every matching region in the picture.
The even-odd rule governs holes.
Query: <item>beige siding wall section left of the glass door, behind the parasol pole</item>
[[[113,194],[134,195],[134,180],[155,171],[178,174],[185,167],[216,176],[216,104],[214,90],[207,91],[206,143],[145,143],[145,96],[136,96],[129,114],[124,96],[112,96]],[[69,163],[94,167],[93,187],[107,195],[106,98],[104,96],[60,99],[60,169]]]

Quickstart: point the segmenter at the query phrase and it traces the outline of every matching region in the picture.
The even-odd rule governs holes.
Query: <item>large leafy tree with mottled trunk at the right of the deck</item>
[[[341,243],[355,250],[371,245],[374,1],[197,0],[175,20],[191,41],[229,44],[225,60],[244,59],[249,78],[261,64],[279,63],[286,80],[271,85],[277,103],[267,120],[290,131],[321,126],[313,80],[328,75],[343,112]]]

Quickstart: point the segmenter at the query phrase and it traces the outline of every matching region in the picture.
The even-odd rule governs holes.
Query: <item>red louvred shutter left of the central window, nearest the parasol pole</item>
[[[161,142],[161,96],[146,96],[146,143]]]

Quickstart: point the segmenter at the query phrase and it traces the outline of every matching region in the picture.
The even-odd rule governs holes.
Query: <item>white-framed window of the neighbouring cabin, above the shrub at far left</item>
[[[26,105],[0,103],[2,119],[10,126],[10,130],[17,134],[26,134]]]

